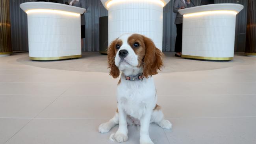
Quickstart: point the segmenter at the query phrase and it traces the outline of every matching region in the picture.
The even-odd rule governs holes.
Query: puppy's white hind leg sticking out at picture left
[[[119,124],[119,113],[118,111],[115,113],[115,116],[111,118],[108,122],[103,123],[99,126],[100,133],[108,133],[112,127]]]

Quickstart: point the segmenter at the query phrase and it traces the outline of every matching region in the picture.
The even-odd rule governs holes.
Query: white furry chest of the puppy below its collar
[[[154,109],[156,100],[153,78],[128,81],[121,76],[121,83],[117,87],[117,101],[126,114],[140,119],[146,109]]]

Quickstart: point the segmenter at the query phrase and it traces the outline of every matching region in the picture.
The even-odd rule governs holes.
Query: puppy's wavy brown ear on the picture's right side
[[[148,78],[152,75],[158,74],[158,70],[163,66],[163,56],[164,54],[156,48],[154,42],[143,36],[143,41],[146,48],[146,54],[143,59],[143,75]]]

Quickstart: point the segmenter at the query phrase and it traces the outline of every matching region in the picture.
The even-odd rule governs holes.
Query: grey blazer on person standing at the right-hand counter
[[[178,13],[180,7],[193,7],[193,4],[191,2],[190,4],[184,3],[184,0],[174,0],[173,12],[176,13],[175,24],[181,24],[183,21],[183,16]]]

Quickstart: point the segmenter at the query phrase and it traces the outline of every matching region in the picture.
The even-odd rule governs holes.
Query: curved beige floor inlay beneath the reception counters
[[[227,68],[243,64],[242,56],[235,56],[233,61],[214,62],[198,61],[174,57],[173,52],[164,52],[164,67],[161,72],[189,72],[199,70],[212,70]],[[83,52],[82,58],[65,61],[31,61],[28,55],[17,59],[18,62],[42,68],[74,70],[83,72],[109,72],[107,55],[100,55],[98,52]]]

